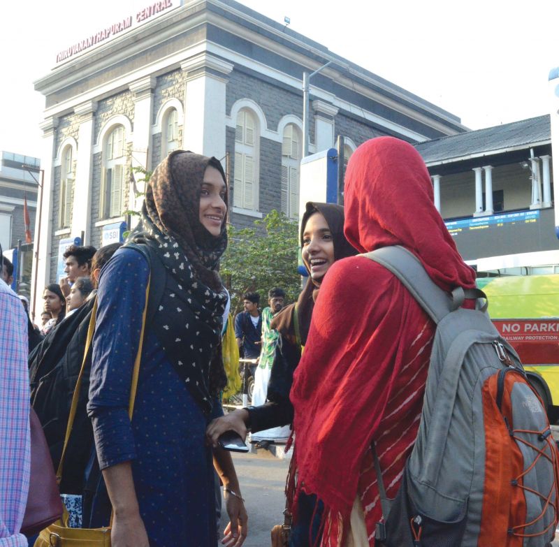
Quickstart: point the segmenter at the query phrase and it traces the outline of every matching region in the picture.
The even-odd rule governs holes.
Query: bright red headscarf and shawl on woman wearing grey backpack
[[[411,145],[383,137],[358,147],[345,210],[344,232],[356,249],[403,245],[442,288],[474,286]],[[377,263],[356,256],[328,271],[291,390],[297,488],[324,502],[321,545],[342,544],[357,494],[374,537],[380,508],[370,442],[393,496],[419,425],[433,333],[433,322]]]

